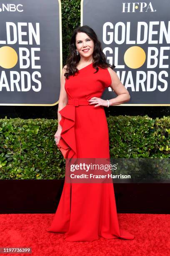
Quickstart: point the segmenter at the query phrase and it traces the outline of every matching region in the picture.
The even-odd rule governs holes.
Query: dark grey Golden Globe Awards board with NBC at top
[[[45,0],[0,1],[0,105],[57,104],[62,68],[60,9],[56,0],[50,5]]]

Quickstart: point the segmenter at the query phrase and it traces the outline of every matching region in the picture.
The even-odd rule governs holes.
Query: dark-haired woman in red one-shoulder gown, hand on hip
[[[62,70],[56,145],[62,138],[70,147],[67,158],[110,158],[104,106],[130,99],[128,91],[106,63],[100,41],[89,26],[75,29],[70,56]],[[106,87],[117,97],[102,100]],[[133,239],[119,228],[113,183],[64,183],[49,232],[64,233],[66,241],[103,238]]]

